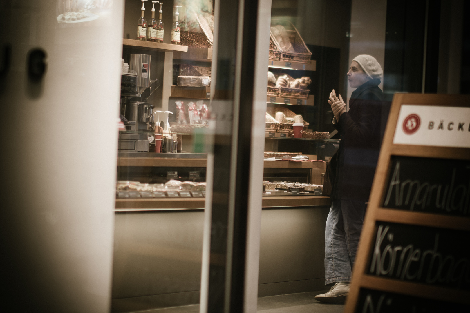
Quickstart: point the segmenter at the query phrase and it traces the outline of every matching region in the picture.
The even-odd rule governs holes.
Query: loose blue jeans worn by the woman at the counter
[[[333,200],[325,227],[325,285],[351,282],[366,203]]]

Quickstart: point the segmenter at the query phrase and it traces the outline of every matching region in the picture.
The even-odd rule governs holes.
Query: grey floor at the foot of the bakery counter
[[[344,305],[323,304],[313,297],[322,292],[258,298],[259,313],[341,313]],[[199,313],[199,305],[179,306],[145,311],[145,313]]]

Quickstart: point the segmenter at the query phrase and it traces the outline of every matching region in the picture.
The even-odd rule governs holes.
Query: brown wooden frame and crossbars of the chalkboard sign
[[[470,148],[393,144],[395,129],[402,105],[470,107],[470,96],[411,93],[396,93],[394,95],[369,198],[367,213],[364,219],[360,244],[356,254],[351,288],[345,305],[345,313],[355,312],[360,288],[470,305],[470,291],[467,290],[451,289],[365,274],[368,258],[370,257],[371,249],[373,249],[372,241],[375,238],[376,221],[470,231],[470,218],[468,217],[390,209],[381,206],[384,186],[388,181],[392,155],[470,160]]]

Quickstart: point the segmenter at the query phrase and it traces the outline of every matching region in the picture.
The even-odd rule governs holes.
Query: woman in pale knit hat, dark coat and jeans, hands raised
[[[349,100],[349,111],[334,90],[328,101],[341,142],[331,158],[335,181],[325,229],[325,284],[334,285],[327,293],[315,297],[327,303],[342,303],[349,292],[381,141],[383,93],[378,85],[383,71],[380,64],[370,55],[358,55],[347,75],[349,85],[357,88]]]

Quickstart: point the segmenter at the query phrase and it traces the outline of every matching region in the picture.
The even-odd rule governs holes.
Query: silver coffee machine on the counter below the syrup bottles
[[[155,148],[154,106],[147,102],[160,86],[150,79],[150,55],[131,54],[129,70],[121,73],[119,152],[149,152]]]

